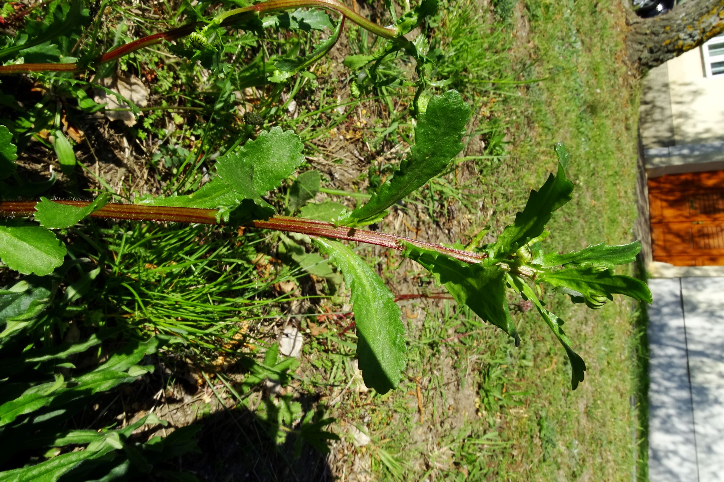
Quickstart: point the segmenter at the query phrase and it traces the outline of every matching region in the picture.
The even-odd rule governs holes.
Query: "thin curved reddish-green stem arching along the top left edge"
[[[268,0],[263,1],[259,4],[251,5],[249,7],[243,7],[240,9],[230,10],[219,15],[221,25],[228,27],[235,25],[240,20],[249,14],[256,12],[258,14],[276,12],[279,10],[295,9],[302,7],[318,7],[333,12],[342,14],[343,17],[347,17],[361,28],[369,30],[375,35],[379,35],[384,38],[394,39],[397,38],[397,29],[391,27],[382,27],[377,25],[365,17],[353,12],[352,9],[347,7],[345,4],[337,0]],[[106,52],[103,55],[97,56],[90,64],[14,64],[14,65],[2,65],[0,66],[0,75],[3,74],[17,74],[20,72],[76,72],[85,70],[90,67],[97,67],[105,62],[112,62],[119,59],[122,56],[126,56],[131,52],[140,50],[148,46],[156,45],[163,41],[173,41],[177,38],[182,38],[190,33],[194,32],[197,27],[206,25],[205,22],[193,22],[187,25],[182,25],[179,28],[167,30],[166,32],[154,33],[138,40],[126,43],[125,45],[114,48],[111,51]]]

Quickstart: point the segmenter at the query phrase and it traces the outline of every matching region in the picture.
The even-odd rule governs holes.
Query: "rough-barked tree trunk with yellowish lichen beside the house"
[[[629,11],[626,23],[628,59],[646,71],[724,32],[724,0],[689,0],[653,18]]]

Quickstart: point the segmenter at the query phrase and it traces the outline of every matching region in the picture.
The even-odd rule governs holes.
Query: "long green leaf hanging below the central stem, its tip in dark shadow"
[[[400,384],[407,348],[402,313],[384,282],[341,242],[314,240],[345,276],[357,327],[357,357],[366,386],[385,394]]]

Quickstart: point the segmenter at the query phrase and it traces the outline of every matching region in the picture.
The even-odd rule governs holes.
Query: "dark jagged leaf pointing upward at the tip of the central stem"
[[[540,236],[550,221],[553,211],[568,203],[573,192],[573,182],[565,178],[568,151],[563,143],[555,145],[558,154],[558,173],[550,174],[540,190],[531,191],[522,213],[515,215],[513,224],[505,227],[490,250],[490,263],[507,258],[510,253]]]

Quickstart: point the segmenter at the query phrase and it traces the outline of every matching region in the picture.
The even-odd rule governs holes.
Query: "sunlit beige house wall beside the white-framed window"
[[[724,75],[704,77],[700,48],[666,66],[676,145],[724,140]]]

